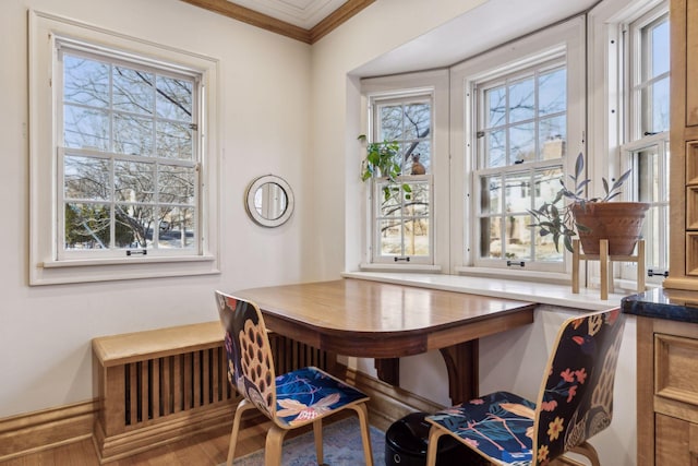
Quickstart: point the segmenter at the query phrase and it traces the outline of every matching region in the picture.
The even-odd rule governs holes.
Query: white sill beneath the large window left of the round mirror
[[[29,285],[112,282],[220,273],[215,255],[45,261],[32,268]]]

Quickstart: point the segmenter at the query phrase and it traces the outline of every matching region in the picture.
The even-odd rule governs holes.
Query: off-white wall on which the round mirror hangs
[[[0,14],[0,418],[92,399],[91,338],[217,319],[213,291],[308,279],[310,46],[173,0],[3,0]],[[29,287],[27,9],[219,60],[220,275]],[[254,225],[246,184],[274,172],[297,210]]]

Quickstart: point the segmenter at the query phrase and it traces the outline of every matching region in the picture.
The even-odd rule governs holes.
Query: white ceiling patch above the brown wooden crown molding
[[[228,0],[267,16],[310,29],[347,0]]]

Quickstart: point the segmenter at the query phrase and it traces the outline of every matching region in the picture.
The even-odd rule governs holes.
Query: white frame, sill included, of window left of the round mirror
[[[57,115],[56,40],[73,38],[92,47],[120,50],[134,59],[153,63],[177,63],[202,76],[205,89],[198,132],[202,156],[200,166],[200,243],[196,254],[130,255],[119,258],[74,258],[59,254],[58,228],[61,226],[57,199],[61,116]],[[31,246],[29,284],[104,282],[144,277],[188,276],[219,273],[218,256],[218,62],[215,59],[157,45],[67,20],[49,13],[29,11],[29,192]]]

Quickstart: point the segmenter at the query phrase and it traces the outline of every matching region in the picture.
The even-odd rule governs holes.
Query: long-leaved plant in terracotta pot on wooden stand
[[[621,194],[621,187],[631,170],[621,175],[613,184],[602,178],[604,195],[585,198],[590,182],[583,177],[585,157],[579,153],[575,162],[575,174],[569,176],[574,187],[567,188],[565,179],[552,202],[529,211],[533,216],[531,227],[539,227],[540,236],[552,235],[555,249],[559,251],[562,239],[565,249],[573,252],[573,239],[579,237],[586,254],[599,254],[599,240],[609,240],[609,254],[630,255],[642,230],[645,212],[649,204],[642,202],[609,202]],[[559,202],[563,205],[558,205]]]

